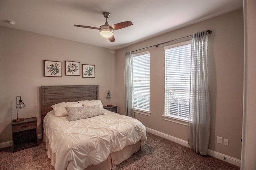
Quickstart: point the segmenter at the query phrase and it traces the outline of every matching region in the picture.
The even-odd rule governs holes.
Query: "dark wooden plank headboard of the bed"
[[[41,86],[41,123],[52,105],[61,102],[98,100],[98,85]],[[43,128],[42,128],[43,133]]]

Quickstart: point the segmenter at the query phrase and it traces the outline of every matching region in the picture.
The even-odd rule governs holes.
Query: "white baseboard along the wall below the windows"
[[[162,138],[165,138],[165,139],[168,139],[168,140],[171,140],[175,143],[178,143],[178,144],[181,144],[182,146],[186,146],[186,147],[189,147],[188,146],[188,142],[186,140],[182,140],[180,138],[176,138],[174,136],[171,136],[169,134],[165,134],[163,132],[159,132],[157,130],[154,130],[152,128],[148,128],[146,127],[146,130],[147,132],[150,132],[152,134],[155,134],[157,136],[160,136]],[[230,164],[233,164],[233,165],[236,165],[236,166],[239,166],[240,167],[240,164],[241,164],[241,160],[237,159],[237,158],[233,158],[231,156],[228,156],[228,155],[225,155],[225,154],[222,154],[220,152],[216,152],[214,150],[210,150],[208,149],[208,152],[207,152],[208,155],[214,157],[214,158],[218,158],[220,160],[223,160],[223,161],[226,161],[226,162],[229,162]],[[225,158],[225,160],[224,160]]]

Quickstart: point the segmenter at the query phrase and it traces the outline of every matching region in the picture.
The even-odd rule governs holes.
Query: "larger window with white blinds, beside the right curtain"
[[[190,103],[191,42],[164,47],[165,108],[164,115],[188,121]]]

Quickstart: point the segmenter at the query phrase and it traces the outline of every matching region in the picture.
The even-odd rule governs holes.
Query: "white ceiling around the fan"
[[[1,0],[1,26],[120,49],[127,45],[243,8],[242,0]],[[130,20],[133,25],[114,31],[116,42],[98,30],[110,12],[110,25]],[[10,25],[6,20],[16,22]]]

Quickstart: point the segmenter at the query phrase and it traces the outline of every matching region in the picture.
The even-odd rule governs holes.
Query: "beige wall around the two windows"
[[[171,22],[171,21],[170,21]],[[212,30],[208,39],[208,74],[211,110],[209,149],[241,158],[243,112],[243,10],[206,20],[167,34],[130,45],[117,51],[117,105],[124,113],[125,52],[175,40],[203,30]],[[168,45],[168,44],[165,44]],[[146,127],[182,140],[188,139],[188,127],[164,121],[164,45],[150,49],[150,112],[136,113]],[[229,140],[229,146],[216,143],[216,136]]]

